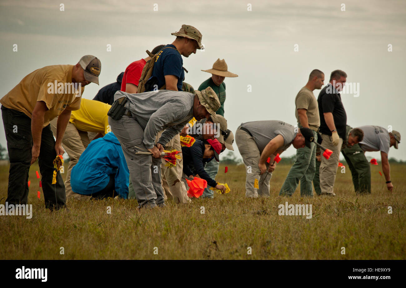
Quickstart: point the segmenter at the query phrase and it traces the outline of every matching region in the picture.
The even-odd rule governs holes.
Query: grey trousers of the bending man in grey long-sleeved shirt
[[[108,124],[123,149],[138,207],[141,208],[144,205],[155,207],[157,204],[163,204],[161,158],[135,154],[134,151],[134,146],[137,146],[148,152],[148,149],[143,144],[144,129],[135,118],[126,115],[120,120],[114,120],[109,116]]]

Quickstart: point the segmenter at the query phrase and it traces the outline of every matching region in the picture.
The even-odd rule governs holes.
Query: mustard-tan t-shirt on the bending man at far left
[[[44,101],[48,107],[44,115],[45,127],[63,110],[80,108],[84,87],[81,87],[80,93],[75,94],[75,88],[79,86],[74,87],[71,83],[72,69],[73,65],[52,65],[37,69],[0,99],[0,103],[32,118],[32,110],[37,101]]]

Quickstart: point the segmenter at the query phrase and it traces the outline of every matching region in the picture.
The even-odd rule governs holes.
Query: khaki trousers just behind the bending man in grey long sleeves
[[[161,133],[158,133],[157,135],[158,139],[161,136],[160,134]],[[170,151],[175,149],[177,151],[182,151],[179,134],[171,139],[171,141],[169,141],[165,146],[165,150]],[[164,187],[167,186],[169,188],[169,191],[165,190],[165,194],[169,192],[169,196],[171,196],[177,204],[191,202],[190,198],[188,197],[188,189],[186,189],[185,184],[182,182],[183,159],[177,160],[176,166],[172,168],[168,168],[166,163],[166,161],[162,160],[162,184]],[[165,181],[166,185],[164,185]]]

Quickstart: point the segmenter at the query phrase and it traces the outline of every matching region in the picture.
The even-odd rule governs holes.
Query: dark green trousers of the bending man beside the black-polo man
[[[358,144],[341,150],[350,168],[355,193],[371,193],[371,167]]]

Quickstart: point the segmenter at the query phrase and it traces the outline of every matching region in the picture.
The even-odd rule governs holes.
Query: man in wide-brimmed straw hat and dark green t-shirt
[[[216,111],[216,114],[219,114],[224,117],[224,102],[226,101],[226,84],[223,82],[225,77],[238,77],[237,74],[229,72],[227,67],[227,63],[225,60],[220,60],[218,58],[216,62],[213,64],[213,68],[209,70],[202,70],[207,73],[211,73],[212,77],[207,79],[205,82],[200,84],[199,86],[199,91],[204,90],[207,87],[212,87],[214,92],[216,92],[218,99],[220,100],[220,108]],[[220,131],[221,132],[221,131]],[[225,131],[223,131],[225,133]],[[224,135],[223,135],[224,136]],[[216,163],[214,163],[216,162]],[[209,163],[206,164],[205,170],[207,174],[212,179],[216,178],[217,172],[218,172],[218,162],[217,161],[210,161]],[[203,195],[201,196],[203,198],[213,198],[214,197],[214,191],[206,188],[203,191]]]

